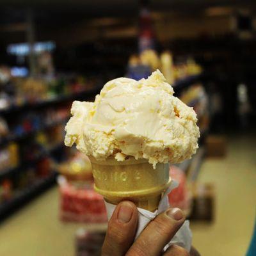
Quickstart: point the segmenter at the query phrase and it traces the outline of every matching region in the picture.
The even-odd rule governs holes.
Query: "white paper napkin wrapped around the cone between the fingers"
[[[143,229],[148,225],[148,223],[156,218],[158,214],[161,212],[164,212],[166,209],[168,209],[169,200],[168,200],[168,194],[172,191],[172,189],[177,188],[179,183],[175,180],[172,180],[172,183],[168,189],[166,189],[163,198],[159,202],[158,209],[155,212],[150,212],[145,209],[138,208],[139,211],[139,220],[138,220],[138,228],[136,232],[135,239],[140,235],[140,233],[143,231]],[[109,204],[108,202],[105,202],[107,214],[108,214],[108,220],[111,218],[113,212],[115,211],[116,205]],[[172,244],[177,244],[184,249],[190,251],[192,243],[192,233],[189,228],[189,221],[186,220],[182,227],[178,230],[178,232],[175,234],[173,239],[164,246],[164,251],[167,250]]]

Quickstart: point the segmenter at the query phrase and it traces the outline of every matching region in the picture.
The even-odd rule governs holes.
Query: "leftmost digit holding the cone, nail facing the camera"
[[[133,243],[138,223],[136,205],[123,201],[117,205],[108,223],[102,256],[122,256]]]

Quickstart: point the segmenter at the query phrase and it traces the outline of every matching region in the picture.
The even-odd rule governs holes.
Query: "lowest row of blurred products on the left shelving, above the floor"
[[[33,159],[0,172],[0,218],[11,214],[56,182],[56,163],[63,161],[63,143],[42,148]]]

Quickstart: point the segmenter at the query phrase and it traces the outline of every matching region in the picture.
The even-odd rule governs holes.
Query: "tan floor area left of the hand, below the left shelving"
[[[52,188],[0,224],[0,255],[75,255],[74,234],[79,227],[58,220],[58,189]]]

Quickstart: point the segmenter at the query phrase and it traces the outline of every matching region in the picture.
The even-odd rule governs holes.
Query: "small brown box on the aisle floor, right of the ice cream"
[[[205,139],[205,156],[225,157],[227,154],[227,140],[225,136],[209,135]]]

